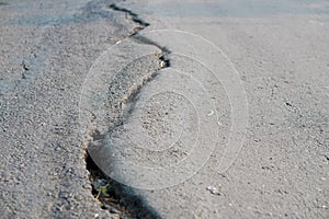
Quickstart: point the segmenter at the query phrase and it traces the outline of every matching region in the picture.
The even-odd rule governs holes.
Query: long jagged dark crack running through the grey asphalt
[[[126,19],[129,19],[132,22],[138,25],[134,28],[133,33],[125,38],[131,37],[138,44],[155,46],[160,49],[160,53],[155,54],[158,60],[158,67],[156,67],[154,71],[147,73],[141,79],[136,81],[136,83],[133,83],[126,93],[124,93],[124,96],[121,97],[121,101],[117,104],[122,108],[124,105],[127,106],[128,114],[123,116],[121,120],[114,123],[109,128],[107,134],[114,130],[116,127],[123,125],[124,120],[128,118],[129,114],[135,108],[135,99],[145,84],[155,79],[159,70],[170,67],[170,60],[168,56],[171,53],[168,48],[139,34],[139,31],[146,28],[150,24],[140,19],[138,14],[114,3],[110,4],[109,8],[113,11],[126,13]],[[118,43],[121,43],[121,41]],[[93,142],[101,142],[104,140],[105,135],[101,134],[99,130],[93,130],[91,138],[91,141]],[[103,173],[103,171],[95,164],[95,162],[92,160],[92,157],[88,152],[88,148],[90,146],[91,143],[89,143],[87,147],[86,153],[87,170],[90,172],[92,194],[99,201],[102,203],[102,208],[107,209],[110,212],[118,214],[122,218],[160,218],[160,216],[146,204],[143,197],[135,195],[131,187],[115,182]],[[105,188],[104,186],[106,189],[101,192],[102,188]]]

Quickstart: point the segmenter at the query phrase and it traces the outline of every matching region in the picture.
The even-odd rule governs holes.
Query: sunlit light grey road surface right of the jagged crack
[[[163,218],[328,217],[328,2],[117,5],[171,65],[106,136],[102,169]]]

